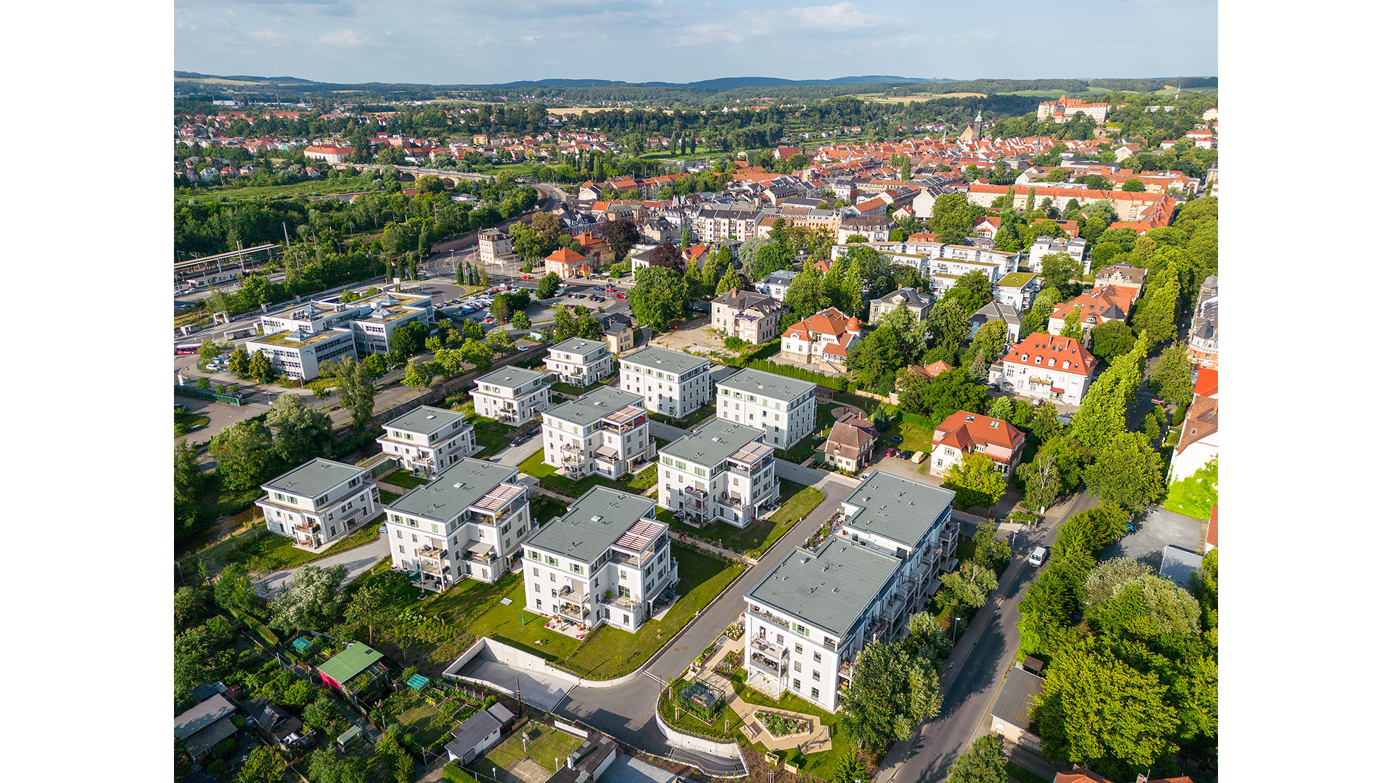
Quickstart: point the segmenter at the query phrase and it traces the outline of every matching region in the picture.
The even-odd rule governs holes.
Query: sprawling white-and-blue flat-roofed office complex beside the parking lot
[[[358,302],[310,301],[260,316],[260,337],[246,341],[246,352],[266,354],[290,378],[319,378],[330,359],[386,354],[391,333],[433,318],[430,297],[388,293]]]

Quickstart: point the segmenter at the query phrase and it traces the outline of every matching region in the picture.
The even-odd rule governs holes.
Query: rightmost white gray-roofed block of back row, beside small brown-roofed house
[[[759,369],[741,369],[715,383],[715,415],[763,428],[764,443],[789,449],[817,422],[817,385]]]

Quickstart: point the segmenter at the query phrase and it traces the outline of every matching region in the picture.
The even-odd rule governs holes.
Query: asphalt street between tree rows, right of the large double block
[[[956,757],[990,730],[991,702],[995,701],[1005,672],[1015,663],[1015,651],[1020,645],[1016,627],[1020,620],[1019,602],[1038,574],[1025,557],[1036,546],[1052,546],[1062,520],[1096,504],[1093,497],[1077,493],[1047,514],[1044,524],[1015,534],[1013,559],[1002,574],[992,600],[977,612],[970,627],[965,631],[958,628],[962,639],[940,683],[942,712],[920,726],[912,740],[889,747],[874,783],[947,780]]]

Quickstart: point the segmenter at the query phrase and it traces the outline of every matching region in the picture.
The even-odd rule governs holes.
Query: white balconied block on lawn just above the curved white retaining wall
[[[667,525],[649,497],[592,488],[522,545],[526,610],[585,628],[636,631],[678,581]]]

